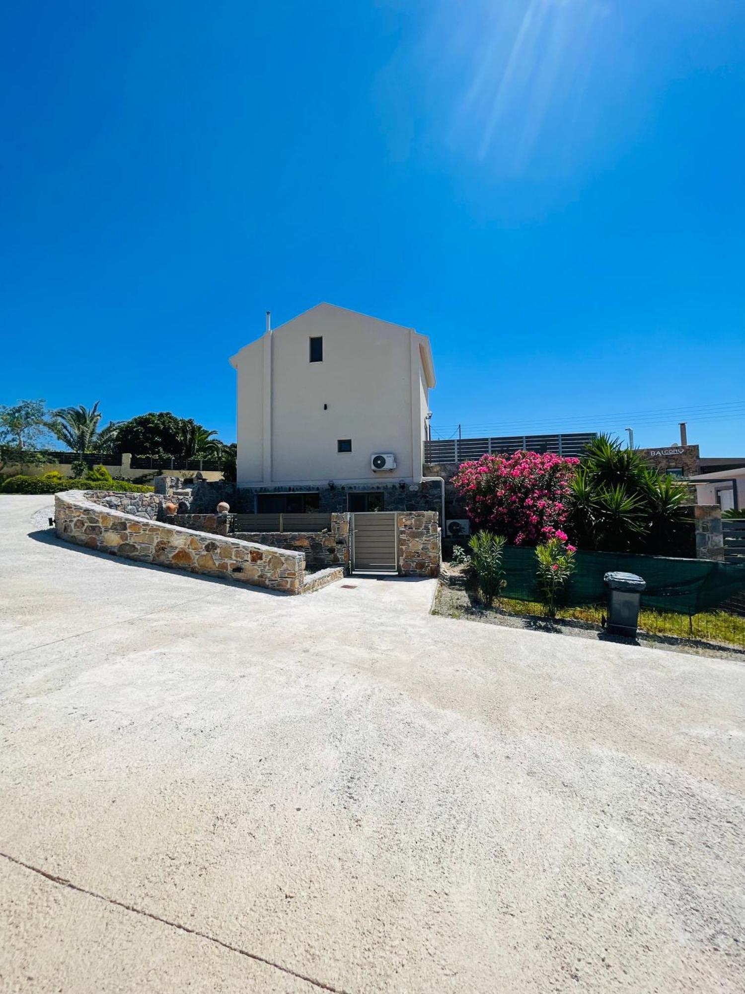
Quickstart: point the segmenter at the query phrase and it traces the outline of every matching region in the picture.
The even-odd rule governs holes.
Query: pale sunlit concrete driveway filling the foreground
[[[742,664],[136,566],[50,505],[0,496],[0,989],[745,989]]]

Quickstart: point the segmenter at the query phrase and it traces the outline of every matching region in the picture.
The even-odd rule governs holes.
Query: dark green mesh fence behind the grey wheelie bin
[[[647,580],[642,605],[661,611],[697,614],[710,611],[745,589],[745,566],[709,563],[706,560],[668,559],[663,556],[629,556],[623,553],[576,554],[577,567],[567,590],[567,604],[597,604],[608,598],[606,573],[635,573]],[[535,586],[535,551],[506,546],[503,567],[505,596],[539,600]]]

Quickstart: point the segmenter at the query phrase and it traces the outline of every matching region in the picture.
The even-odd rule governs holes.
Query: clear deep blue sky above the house
[[[326,300],[430,335],[443,434],[745,454],[742,0],[56,0],[0,49],[0,401],[230,440],[227,357]]]

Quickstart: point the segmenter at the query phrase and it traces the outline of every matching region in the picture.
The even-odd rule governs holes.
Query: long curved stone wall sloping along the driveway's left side
[[[209,577],[222,577],[302,593],[305,559],[302,553],[216,537],[202,532],[134,516],[103,503],[112,495],[69,490],[55,497],[57,534],[67,542]],[[154,496],[152,494],[118,494]]]

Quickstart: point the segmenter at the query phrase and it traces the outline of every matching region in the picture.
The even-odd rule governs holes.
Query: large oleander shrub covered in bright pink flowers
[[[552,452],[482,455],[464,462],[453,484],[475,528],[504,535],[516,546],[566,541],[561,529],[578,463]]]

